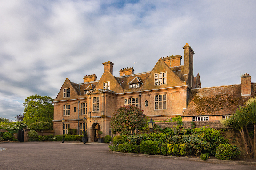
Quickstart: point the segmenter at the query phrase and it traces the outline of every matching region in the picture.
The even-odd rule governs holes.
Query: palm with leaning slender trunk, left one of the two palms
[[[243,107],[239,106],[239,108],[236,109],[236,113],[233,113],[232,116],[231,116],[231,118],[223,120],[221,123],[224,126],[229,126],[229,127],[236,129],[240,132],[240,134],[243,138],[243,141],[244,141],[244,147],[245,147],[247,158],[250,159],[251,157],[249,154],[249,150],[248,150],[247,142],[244,137],[244,130],[243,130],[243,128],[247,126],[249,121],[248,121],[248,118],[244,114]]]

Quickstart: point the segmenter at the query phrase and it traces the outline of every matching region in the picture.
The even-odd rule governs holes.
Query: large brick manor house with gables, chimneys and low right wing
[[[244,74],[241,84],[201,88],[199,73],[194,77],[194,51],[188,45],[181,55],[163,57],[148,72],[134,74],[133,68],[123,68],[119,77],[113,75],[113,63],[103,63],[100,80],[95,74],[84,76],[83,83],[66,78],[54,99],[54,131],[62,134],[61,119],[65,119],[64,133],[68,128],[88,133],[88,142],[97,139],[98,131],[111,135],[111,115],[117,108],[134,105],[154,121],[166,121],[182,116],[182,121],[222,120],[232,114],[238,105],[255,96],[256,83]],[[83,126],[83,118],[87,121]]]

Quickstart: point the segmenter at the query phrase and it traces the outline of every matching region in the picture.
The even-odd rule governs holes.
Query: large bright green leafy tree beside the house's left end
[[[23,103],[24,122],[29,124],[34,122],[50,122],[53,126],[53,99],[49,96],[29,96]]]

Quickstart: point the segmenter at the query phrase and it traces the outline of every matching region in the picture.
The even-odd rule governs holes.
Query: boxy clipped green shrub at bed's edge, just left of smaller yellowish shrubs
[[[161,152],[161,142],[144,140],[140,143],[140,153],[158,155]]]

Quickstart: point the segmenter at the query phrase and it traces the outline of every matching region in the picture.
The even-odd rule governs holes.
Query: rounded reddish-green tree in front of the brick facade
[[[128,135],[143,127],[146,122],[146,115],[138,107],[123,106],[112,115],[110,128],[114,133]]]

